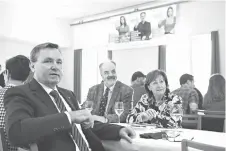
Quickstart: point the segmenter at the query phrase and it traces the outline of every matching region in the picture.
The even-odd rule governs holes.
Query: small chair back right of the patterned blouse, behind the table
[[[197,114],[184,114],[182,116],[182,127],[189,129],[200,129],[199,118]]]

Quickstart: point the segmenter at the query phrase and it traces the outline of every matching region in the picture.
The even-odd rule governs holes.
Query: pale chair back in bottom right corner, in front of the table
[[[203,150],[203,151],[225,151],[224,147],[207,145],[207,144],[183,139],[181,142],[181,151],[188,151],[188,147],[198,149],[198,150]]]

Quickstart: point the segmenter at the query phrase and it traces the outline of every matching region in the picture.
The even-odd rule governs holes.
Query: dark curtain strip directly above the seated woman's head
[[[159,46],[158,69],[166,71],[166,45]]]

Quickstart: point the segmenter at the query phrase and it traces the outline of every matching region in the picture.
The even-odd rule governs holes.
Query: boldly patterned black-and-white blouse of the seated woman
[[[162,98],[162,103],[157,103],[154,96],[148,97],[148,94],[141,96],[134,109],[127,116],[128,123],[141,123],[142,115],[146,114],[149,120],[146,121],[149,124],[157,124],[160,127],[180,127],[182,122],[182,114],[178,113],[182,110],[181,97],[168,93]]]

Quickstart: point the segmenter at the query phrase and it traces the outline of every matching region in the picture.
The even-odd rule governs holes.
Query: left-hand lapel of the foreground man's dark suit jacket
[[[41,101],[42,103],[44,103],[51,113],[58,112],[50,96],[35,79],[33,79],[29,83],[29,86],[35,98],[37,98],[38,101]]]

